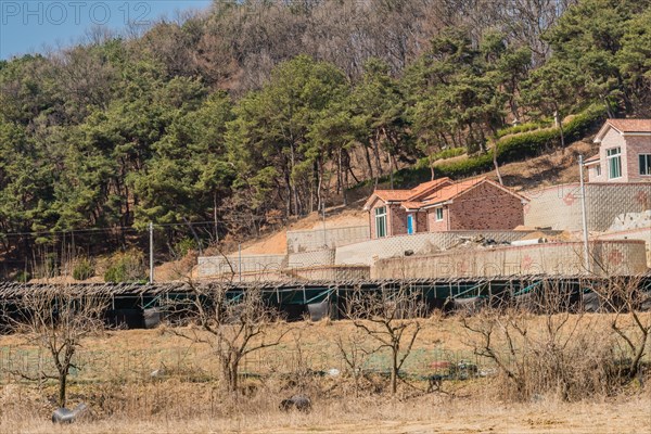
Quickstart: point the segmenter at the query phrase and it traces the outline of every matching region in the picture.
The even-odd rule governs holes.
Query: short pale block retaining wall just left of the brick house
[[[315,252],[359,243],[370,239],[368,225],[288,231],[288,253]]]

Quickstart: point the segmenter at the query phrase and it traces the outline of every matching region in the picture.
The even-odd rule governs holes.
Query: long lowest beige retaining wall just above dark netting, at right
[[[421,257],[380,259],[373,279],[492,277],[508,275],[575,275],[586,272],[583,243],[545,243],[443,253]],[[644,242],[590,242],[591,271],[599,276],[647,271]]]

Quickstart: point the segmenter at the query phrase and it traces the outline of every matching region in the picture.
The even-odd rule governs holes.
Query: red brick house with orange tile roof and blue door
[[[375,190],[365,204],[371,238],[448,230],[513,229],[528,200],[485,177],[449,178],[411,190]]]

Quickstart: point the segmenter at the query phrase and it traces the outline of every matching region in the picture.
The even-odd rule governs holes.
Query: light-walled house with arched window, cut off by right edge
[[[651,119],[608,119],[586,159],[589,182],[651,182]]]

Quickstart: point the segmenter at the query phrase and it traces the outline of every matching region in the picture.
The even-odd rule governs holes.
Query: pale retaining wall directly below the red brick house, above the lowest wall
[[[375,259],[404,256],[406,251],[414,255],[429,255],[457,244],[461,237],[482,235],[497,242],[511,242],[525,237],[527,231],[448,231],[423,232],[411,235],[387,237],[339,247],[334,263],[336,265],[372,265]]]

